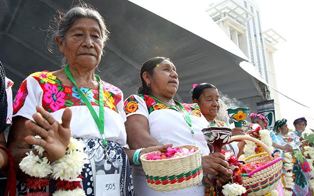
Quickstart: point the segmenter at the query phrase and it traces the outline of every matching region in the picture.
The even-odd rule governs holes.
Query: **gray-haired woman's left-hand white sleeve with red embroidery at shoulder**
[[[29,76],[19,87],[13,102],[13,117],[23,116],[33,120],[36,113],[36,106],[42,105],[43,91],[37,80]]]

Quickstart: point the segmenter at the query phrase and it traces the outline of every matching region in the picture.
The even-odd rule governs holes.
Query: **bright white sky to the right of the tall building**
[[[199,0],[208,7],[217,0]],[[314,1],[255,0],[259,5],[262,31],[274,29],[287,41],[276,45],[274,54],[277,88],[292,99],[310,107],[305,108],[279,95],[281,117],[293,121],[305,116],[307,128],[314,128]]]

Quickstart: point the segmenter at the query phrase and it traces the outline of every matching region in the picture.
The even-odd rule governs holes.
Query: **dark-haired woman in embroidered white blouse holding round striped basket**
[[[155,57],[141,67],[142,85],[138,94],[125,101],[127,142],[131,149],[173,143],[196,144],[201,148],[203,173],[218,175],[219,184],[230,179],[228,163],[221,153],[209,153],[202,129],[208,121],[197,104],[174,101],[179,87],[177,69],[168,58]],[[182,107],[180,107],[182,106]],[[183,110],[188,113],[190,124]],[[160,192],[150,189],[140,166],[132,169],[135,195],[197,195],[205,194],[205,187],[197,185],[177,191]]]

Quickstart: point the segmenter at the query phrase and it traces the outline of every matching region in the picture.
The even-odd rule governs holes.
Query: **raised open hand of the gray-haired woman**
[[[65,155],[65,150],[70,141],[70,121],[72,112],[66,108],[62,114],[62,124],[60,124],[49,112],[41,106],[36,107],[37,113],[33,114],[35,122],[27,120],[27,129],[37,134],[41,139],[32,135],[25,137],[28,144],[40,145],[45,151],[43,156],[50,162],[60,159]]]

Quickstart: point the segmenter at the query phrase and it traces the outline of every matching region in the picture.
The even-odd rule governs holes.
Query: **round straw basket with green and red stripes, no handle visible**
[[[171,191],[194,186],[202,181],[200,148],[196,145],[180,145],[178,148],[194,149],[195,153],[162,160],[146,160],[150,153],[140,157],[149,187],[157,191]]]

